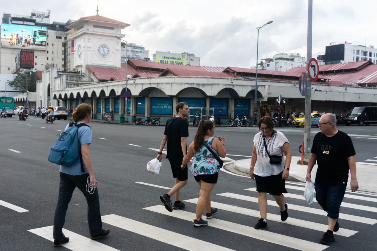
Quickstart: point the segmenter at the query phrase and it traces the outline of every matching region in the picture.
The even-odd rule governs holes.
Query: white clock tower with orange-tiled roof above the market
[[[97,12],[98,13],[98,12]],[[67,28],[71,29],[74,46],[74,63],[79,71],[89,76],[86,65],[121,67],[121,30],[130,24],[94,15],[82,17]]]

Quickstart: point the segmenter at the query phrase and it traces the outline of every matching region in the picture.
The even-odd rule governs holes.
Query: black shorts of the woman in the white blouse
[[[254,175],[257,184],[257,192],[270,193],[270,195],[282,195],[287,193],[285,189],[285,180],[282,180],[283,172],[271,176]]]

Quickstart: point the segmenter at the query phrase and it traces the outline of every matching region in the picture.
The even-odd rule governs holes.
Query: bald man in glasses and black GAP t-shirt
[[[328,216],[328,230],[323,234],[320,243],[330,244],[335,241],[333,231],[339,230],[339,209],[346,191],[348,170],[351,173],[352,192],[359,189],[359,183],[356,178],[356,153],[352,140],[347,134],[336,129],[334,115],[323,115],[319,119],[319,129],[320,132],[313,140],[305,180],[310,182],[310,173],[317,161],[314,182],[316,199]]]

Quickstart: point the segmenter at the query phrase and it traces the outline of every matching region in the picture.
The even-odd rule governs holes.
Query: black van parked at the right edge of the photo
[[[377,106],[354,107],[344,120],[347,126],[377,124]]]

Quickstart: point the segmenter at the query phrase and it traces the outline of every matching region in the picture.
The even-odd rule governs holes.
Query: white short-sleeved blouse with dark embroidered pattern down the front
[[[282,162],[279,164],[270,164],[270,158],[266,153],[264,146],[263,132],[258,132],[254,136],[254,146],[257,150],[257,161],[254,166],[254,174],[262,177],[277,175],[284,170],[285,156],[282,157]],[[268,154],[282,156],[284,152],[280,147],[285,143],[289,144],[287,137],[282,132],[274,130],[271,137],[267,140]]]

